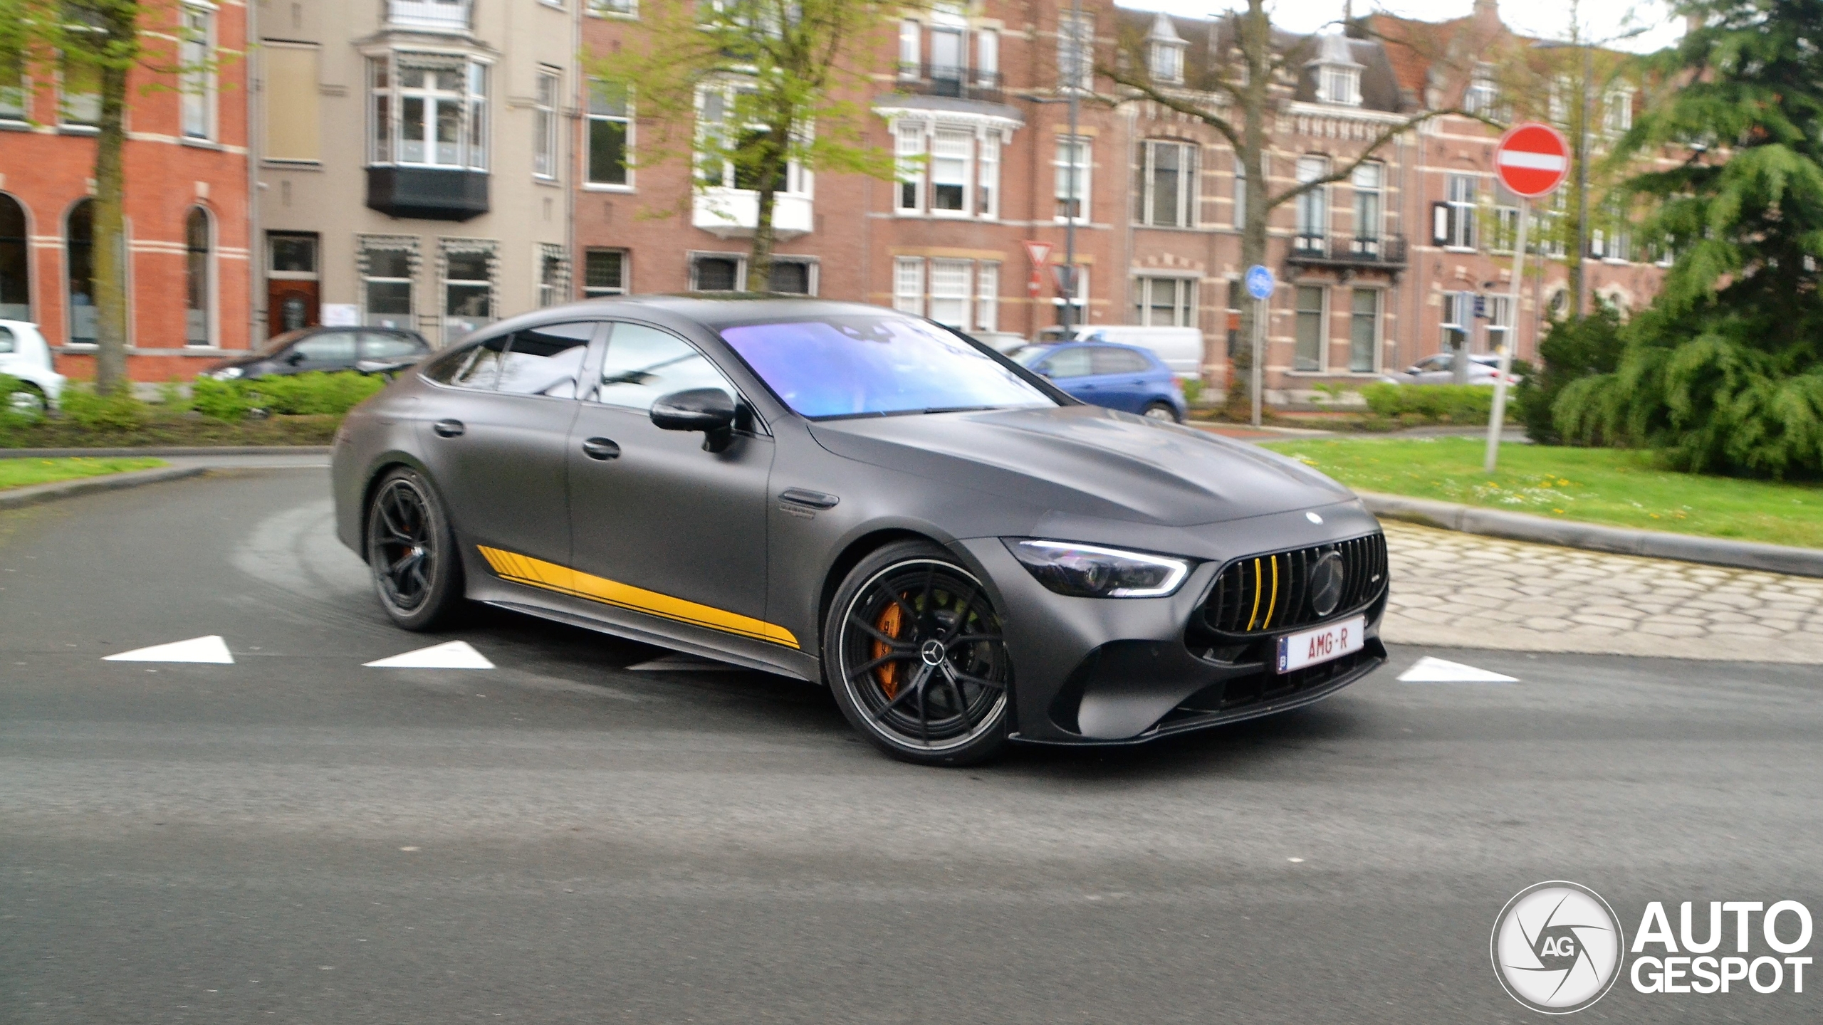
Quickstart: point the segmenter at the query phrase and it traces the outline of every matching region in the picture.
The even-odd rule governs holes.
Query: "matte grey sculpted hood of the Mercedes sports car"
[[[824,419],[850,460],[1048,512],[1190,527],[1353,498],[1294,460],[1092,405]]]

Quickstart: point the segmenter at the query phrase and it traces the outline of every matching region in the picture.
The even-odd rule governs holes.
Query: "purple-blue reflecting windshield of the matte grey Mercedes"
[[[895,316],[726,328],[722,339],[798,416],[1057,405],[953,334]]]

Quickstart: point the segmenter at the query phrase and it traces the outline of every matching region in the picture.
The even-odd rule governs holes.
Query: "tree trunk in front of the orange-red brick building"
[[[128,69],[109,62],[100,73],[102,119],[95,137],[95,390],[129,387],[126,376],[128,290],[124,146]]]

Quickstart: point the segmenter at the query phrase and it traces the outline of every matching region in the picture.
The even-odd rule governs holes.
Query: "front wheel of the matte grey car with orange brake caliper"
[[[848,573],[822,660],[842,715],[895,759],[966,766],[1006,744],[1014,677],[1001,616],[935,544],[897,542]]]

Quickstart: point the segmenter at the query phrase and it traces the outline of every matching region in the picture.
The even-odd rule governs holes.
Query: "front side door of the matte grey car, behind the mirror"
[[[574,569],[596,600],[757,637],[766,615],[766,483],[773,440],[740,390],[691,343],[616,321],[569,436]],[[736,399],[733,441],[662,430],[653,401],[685,388]],[[742,423],[747,429],[738,429]]]

